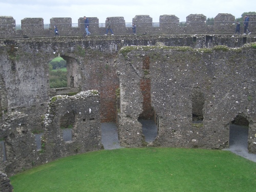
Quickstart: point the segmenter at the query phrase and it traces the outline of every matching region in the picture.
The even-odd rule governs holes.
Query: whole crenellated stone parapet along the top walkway
[[[250,18],[248,28],[254,33],[256,31],[255,15],[248,16]],[[88,19],[90,22],[89,31],[92,35],[105,34],[105,23],[99,24],[97,17],[88,17]],[[126,26],[123,17],[110,17],[110,19],[113,24],[114,34],[133,34],[132,25],[128,24]],[[183,23],[183,26],[180,26],[180,20],[175,15],[160,15],[159,24],[153,23],[153,18],[150,15],[136,15],[132,22],[137,26],[137,34],[234,34],[236,31],[236,20],[233,15],[219,13],[214,19],[214,25],[207,25],[205,15],[190,14],[186,17],[186,22]],[[78,23],[72,23],[70,17],[53,17],[50,19],[50,25],[44,24],[43,18],[24,18],[21,28],[15,28],[13,17],[1,16],[0,38],[54,36],[55,25],[60,35],[84,34],[82,17],[78,18]],[[241,28],[243,28],[242,24]]]

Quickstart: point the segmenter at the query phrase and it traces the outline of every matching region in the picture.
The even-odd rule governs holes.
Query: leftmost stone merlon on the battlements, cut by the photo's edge
[[[0,16],[0,36],[15,37],[15,20],[11,16]]]

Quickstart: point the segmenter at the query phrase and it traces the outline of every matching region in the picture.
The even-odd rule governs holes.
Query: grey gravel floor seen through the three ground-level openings
[[[142,120],[140,122],[146,142],[153,142],[157,136],[157,127],[154,121]],[[224,150],[256,162],[256,154],[249,154],[247,150],[248,129],[232,124],[230,125],[230,130],[229,148]],[[115,123],[101,123],[101,138],[105,150],[121,148]]]

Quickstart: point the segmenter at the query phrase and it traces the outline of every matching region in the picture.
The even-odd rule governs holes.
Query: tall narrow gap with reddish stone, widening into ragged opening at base
[[[150,57],[146,56],[143,61],[144,76],[140,80],[140,89],[143,96],[143,111],[139,115],[138,121],[142,124],[142,134],[146,142],[153,142],[158,134],[155,111],[151,105],[151,79],[148,78],[150,73]]]

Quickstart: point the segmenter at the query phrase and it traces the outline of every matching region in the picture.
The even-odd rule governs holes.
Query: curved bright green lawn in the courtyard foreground
[[[256,163],[229,151],[121,148],[58,159],[11,177],[18,191],[254,191]]]

